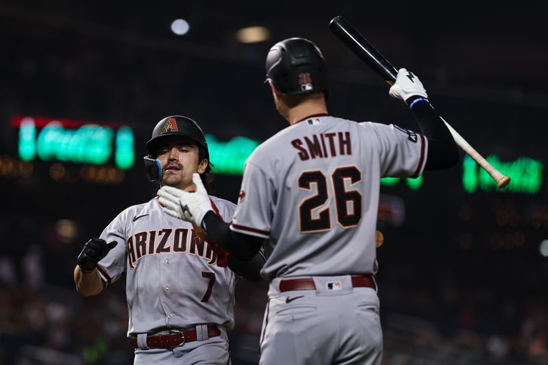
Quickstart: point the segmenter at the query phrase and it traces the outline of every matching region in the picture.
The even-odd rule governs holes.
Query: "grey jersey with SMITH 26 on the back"
[[[266,238],[264,279],[371,274],[381,177],[417,177],[427,139],[396,125],[309,117],[249,156],[231,229]]]

